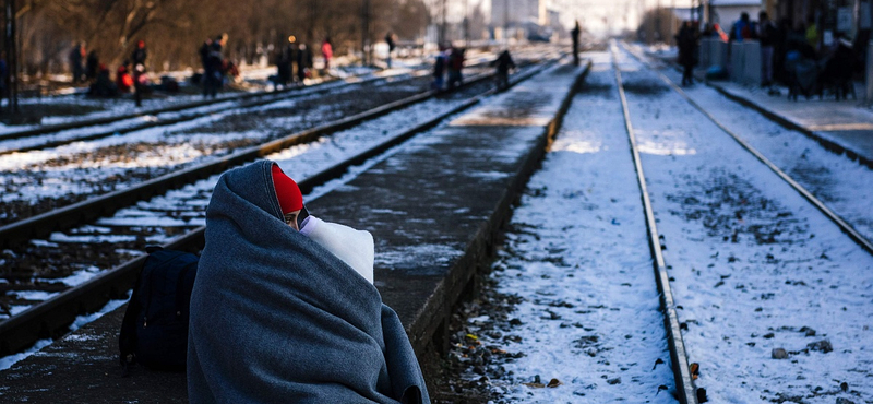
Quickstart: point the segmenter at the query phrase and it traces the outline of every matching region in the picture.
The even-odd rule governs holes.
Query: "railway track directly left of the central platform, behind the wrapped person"
[[[524,68],[516,74],[515,82],[536,74],[547,64]],[[418,94],[357,116],[236,151],[124,191],[88,200],[84,202],[85,205],[55,211],[50,213],[53,218],[39,218],[41,222],[35,217],[27,219],[31,224],[21,228],[43,227],[43,233],[56,233],[48,239],[35,239],[33,233],[26,236],[26,231],[16,236],[24,241],[24,250],[11,254],[7,250],[4,259],[7,263],[16,260],[15,266],[22,271],[14,274],[12,280],[8,278],[2,286],[13,292],[16,288],[37,289],[35,294],[51,294],[51,297],[41,301],[27,301],[26,298],[19,301],[24,305],[12,305],[9,300],[4,302],[7,308],[14,306],[19,309],[0,323],[0,355],[20,352],[39,338],[60,336],[76,316],[98,310],[110,299],[125,298],[144,260],[140,251],[146,243],[199,250],[202,246],[202,211],[208,202],[212,186],[226,169],[263,157],[300,161],[303,162],[299,163],[300,169],[292,173],[299,179],[301,191],[309,193],[316,186],[345,175],[349,167],[363,164],[477,104],[481,97],[492,93],[490,78],[490,74],[481,74],[440,99],[433,98],[432,93]],[[392,126],[397,121],[402,123]],[[324,139],[327,134],[331,135],[330,140]],[[325,156],[331,154],[327,147],[337,152],[333,156]],[[163,195],[146,201],[153,194]],[[116,215],[108,217],[107,212],[112,211],[117,211]],[[63,224],[70,230],[57,231],[57,224]],[[4,239],[10,237],[7,235]],[[36,266],[43,268],[35,270]],[[83,278],[87,281],[80,282]],[[70,287],[72,283],[77,285]],[[26,297],[27,293],[15,292],[13,295]]]

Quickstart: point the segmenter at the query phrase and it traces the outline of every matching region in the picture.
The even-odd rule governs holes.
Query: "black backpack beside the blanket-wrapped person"
[[[200,258],[146,247],[148,258],[133,286],[119,335],[123,376],[142,364],[152,370],[184,371],[188,316]]]

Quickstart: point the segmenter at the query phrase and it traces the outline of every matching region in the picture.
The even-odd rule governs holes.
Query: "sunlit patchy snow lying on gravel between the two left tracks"
[[[387,83],[387,82],[386,82]],[[342,85],[343,83],[328,83],[327,87],[333,88],[332,95],[344,94],[359,90],[358,84]],[[374,85],[383,85],[385,83],[375,83]],[[398,85],[392,84],[392,91],[396,91]],[[420,92],[421,88],[409,88],[411,92]],[[311,94],[308,94],[311,93]],[[45,150],[36,150],[24,153],[13,153],[0,156],[0,171],[5,173],[0,176],[0,185],[7,186],[7,192],[2,195],[2,202],[16,201],[22,199],[29,199],[32,201],[39,201],[46,198],[73,195],[81,193],[99,193],[103,189],[100,179],[112,178],[115,176],[128,176],[131,169],[137,168],[153,168],[157,170],[166,169],[168,166],[177,165],[191,165],[198,162],[204,162],[210,158],[215,158],[224,153],[229,153],[232,150],[223,150],[216,152],[211,147],[217,144],[231,144],[234,140],[239,142],[253,142],[254,140],[266,140],[276,138],[277,128],[301,128],[306,123],[307,116],[314,119],[327,120],[342,110],[324,106],[321,109],[302,109],[308,114],[295,116],[282,116],[265,119],[260,128],[244,132],[234,132],[225,128],[219,132],[210,130],[211,124],[218,124],[222,119],[234,117],[238,115],[263,112],[270,109],[288,108],[295,109],[298,105],[309,105],[313,99],[322,97],[323,95],[316,91],[307,91],[303,96],[283,99],[279,98],[275,103],[262,105],[250,108],[240,108],[232,103],[219,103],[214,106],[205,106],[196,108],[196,111],[191,112],[202,115],[202,117],[174,123],[170,126],[150,128],[144,130],[136,130],[129,133],[101,138],[92,141],[73,142],[68,145],[58,147],[50,147]],[[187,112],[189,114],[189,112]],[[171,119],[178,112],[168,112],[163,118]],[[136,119],[141,121],[142,119]],[[127,123],[130,124],[130,123]],[[61,134],[50,136],[53,139],[64,139],[65,136],[82,136],[92,133],[101,133],[115,128],[115,124],[100,126],[98,128],[85,128],[81,130],[64,131]],[[203,132],[198,132],[198,128],[203,129]],[[289,134],[289,133],[286,133]],[[46,136],[39,139],[22,139],[10,140],[0,142],[0,150],[16,148],[22,146],[29,146],[34,143],[38,144],[40,139],[45,141]],[[228,143],[229,142],[229,143]],[[115,154],[100,153],[100,151],[119,148],[124,150],[124,145],[148,145],[147,147],[137,147],[135,150],[125,150],[125,156],[118,156]],[[89,156],[85,161],[73,158],[67,161],[69,156],[85,155]],[[125,158],[120,158],[125,157]],[[134,158],[135,157],[135,158]],[[57,164],[57,162],[62,162]],[[56,164],[48,165],[47,162],[56,162]],[[33,182],[23,180],[21,177],[24,173],[28,173],[28,167],[40,166],[40,170],[45,171],[45,177],[41,181]],[[135,179],[135,177],[132,177]],[[10,188],[11,187],[11,188]],[[14,189],[11,192],[10,189]]]

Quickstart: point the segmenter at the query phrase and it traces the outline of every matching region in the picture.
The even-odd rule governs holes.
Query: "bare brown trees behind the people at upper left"
[[[330,36],[337,54],[359,49],[391,29],[416,38],[428,20],[422,0],[370,0],[368,33],[361,32],[363,0],[20,0],[16,14],[22,61],[31,73],[65,71],[76,43],[117,66],[136,41],[148,47],[147,68],[198,67],[196,50],[206,37],[227,33],[225,56],[253,61],[259,51],[284,46],[288,35],[319,49]]]

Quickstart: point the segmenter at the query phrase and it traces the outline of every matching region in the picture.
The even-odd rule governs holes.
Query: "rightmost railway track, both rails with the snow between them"
[[[862,274],[871,266],[871,242],[642,56],[624,45],[612,52],[613,58],[621,52],[629,58],[625,63],[634,64],[633,60],[642,67],[627,70],[634,78],[631,84],[622,83],[615,69],[627,131],[637,130],[633,120],[644,133],[642,139],[634,136],[633,153],[680,402],[705,401],[706,389],[713,396],[740,401],[829,402],[840,394],[863,396],[864,383],[859,380],[864,377],[854,373],[869,378],[873,373],[866,366],[870,358],[847,353],[857,352],[865,338],[851,324],[869,316],[864,285],[870,280]],[[651,80],[653,75],[657,79]],[[625,87],[634,93],[631,103]],[[662,108],[670,111],[670,119],[659,118]],[[723,144],[723,150],[708,155],[713,152],[705,148],[713,142]],[[639,144],[647,155],[642,161]],[[696,154],[709,157],[696,161]],[[657,156],[672,156],[680,163]],[[695,167],[695,163],[703,165]],[[643,165],[647,174],[655,173],[650,178],[643,176]],[[695,187],[702,189],[695,191]],[[656,222],[660,231],[653,230]],[[665,262],[662,251],[668,245],[672,252]],[[701,250],[706,257],[701,257]],[[788,280],[774,282],[784,277]],[[663,289],[671,284],[679,295]],[[844,355],[829,354],[832,338],[840,341]],[[791,367],[790,377],[776,373],[743,381],[739,388],[731,385],[731,378],[781,369],[778,360],[784,358],[799,364]],[[694,372],[704,378],[691,375],[691,361]],[[852,370],[824,365],[835,363]],[[794,382],[794,377],[836,382],[828,388],[817,381]]]

